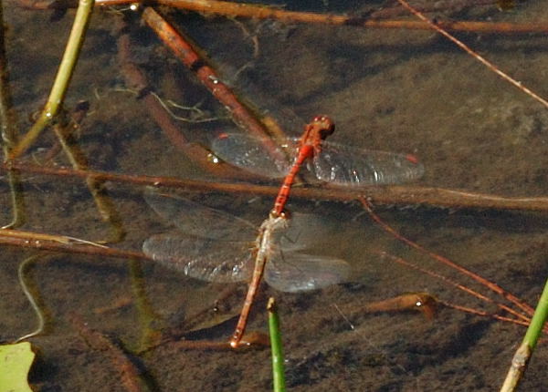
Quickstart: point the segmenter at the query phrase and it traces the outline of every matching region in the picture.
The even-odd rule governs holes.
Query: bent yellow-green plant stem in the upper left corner
[[[26,132],[25,137],[11,150],[11,159],[21,155],[37,139],[42,129],[58,114],[78,60],[80,48],[84,42],[94,4],[95,0],[79,0],[74,24],[72,25],[70,36],[68,36],[67,47],[59,65],[57,77],[49,93],[49,98],[47,98],[46,106],[42,109],[40,116],[31,129]]]

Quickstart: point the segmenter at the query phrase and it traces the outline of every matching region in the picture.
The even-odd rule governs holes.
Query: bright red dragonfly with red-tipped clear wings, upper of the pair
[[[241,169],[270,178],[286,177],[275,205],[278,213],[287,201],[285,192],[289,192],[300,165],[306,160],[317,180],[337,185],[395,184],[416,180],[424,173],[423,165],[411,154],[356,149],[324,141],[333,131],[332,120],[318,116],[305,126],[300,139],[285,140],[273,151],[264,147],[271,145],[271,140],[242,133],[222,134],[214,139],[211,149],[221,160]],[[293,157],[296,158],[291,164]]]

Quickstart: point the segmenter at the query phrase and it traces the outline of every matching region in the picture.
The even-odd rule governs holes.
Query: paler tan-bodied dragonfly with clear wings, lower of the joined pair
[[[348,279],[350,266],[345,261],[306,253],[307,245],[301,240],[307,226],[314,225],[311,215],[295,214],[288,219],[285,213],[271,213],[257,229],[248,221],[182,197],[147,191],[145,200],[179,229],[153,235],[142,244],[142,251],[153,260],[209,282],[249,282],[252,278],[231,346],[236,347],[244,334],[263,270],[270,286],[290,293]],[[297,238],[299,242],[291,242]]]

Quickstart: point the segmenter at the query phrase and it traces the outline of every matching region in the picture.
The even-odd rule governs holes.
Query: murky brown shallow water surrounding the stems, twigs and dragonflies
[[[321,2],[310,10],[325,11]],[[356,12],[359,4],[332,5]],[[10,4],[5,10],[13,96],[21,129],[47,98],[74,11],[58,21],[51,12]],[[126,14],[135,61],[147,72],[162,98],[186,106],[201,105],[224,116],[195,78],[142,26]],[[419,184],[506,196],[542,196],[546,186],[548,115],[540,104],[501,81],[478,62],[429,31],[284,25],[272,21],[170,12],[215,59],[228,77],[246,64],[234,82],[259,108],[289,124],[297,135],[312,116],[330,115],[337,124],[332,140],[376,150],[415,153],[427,170]],[[541,22],[542,2],[500,12],[495,6],[440,17]],[[182,156],[149,118],[135,93],[128,91],[117,63],[113,20],[120,15],[97,10],[82,59],[67,97],[71,108],[90,101],[82,125],[82,146],[98,170],[204,179],[205,173]],[[250,36],[258,39],[258,56]],[[545,35],[458,34],[513,77],[548,97]],[[287,111],[292,111],[297,121]],[[299,121],[300,119],[300,121]],[[296,125],[295,125],[296,124]],[[212,132],[233,127],[227,120],[206,124],[180,122],[188,139],[205,141]],[[54,143],[51,132],[37,142],[27,160],[44,157]],[[58,163],[63,163],[58,158]],[[83,181],[25,175],[28,208],[25,230],[62,233],[89,240],[108,234]],[[150,234],[169,230],[142,200],[142,189],[109,185],[123,217],[127,238],[120,244],[139,250]],[[227,206],[252,222],[261,222],[270,198],[234,194],[187,194]],[[9,194],[0,182],[1,222],[9,219]],[[287,377],[291,390],[498,390],[525,329],[490,318],[439,308],[428,321],[415,312],[353,315],[345,319],[335,305],[360,306],[398,294],[426,291],[444,301],[494,311],[447,284],[380,258],[378,250],[469,281],[428,261],[371,222],[357,203],[293,201],[293,211],[313,211],[325,219],[331,236],[318,252],[353,264],[353,279],[309,294],[280,294],[264,287],[250,329],[266,331],[261,310],[268,295],[279,301]],[[378,209],[382,217],[427,249],[448,256],[535,304],[547,275],[543,213],[448,210],[432,206]],[[3,246],[0,263],[0,338],[14,339],[36,325],[17,283],[17,265],[35,254]],[[123,390],[121,375],[104,353],[90,349],[68,316],[81,315],[90,327],[132,349],[142,338],[135,284],[120,260],[46,255],[32,268],[49,319],[47,334],[32,339],[40,356],[31,381],[39,390]],[[205,284],[153,263],[142,263],[146,298],[157,316],[156,328],[176,327],[213,306],[225,284]],[[470,284],[477,288],[475,284]],[[237,311],[245,286],[219,307]],[[479,288],[481,290],[481,288]],[[344,313],[343,313],[344,315]],[[193,338],[223,339],[234,320]],[[535,352],[522,390],[541,390],[548,381],[543,342]],[[137,358],[157,390],[269,390],[268,350],[245,353],[184,350],[173,342]]]

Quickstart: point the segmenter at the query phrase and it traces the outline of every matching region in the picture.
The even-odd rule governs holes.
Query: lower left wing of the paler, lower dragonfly
[[[168,268],[208,282],[248,280],[253,269],[247,242],[219,242],[164,233],[143,242],[142,252]]]

